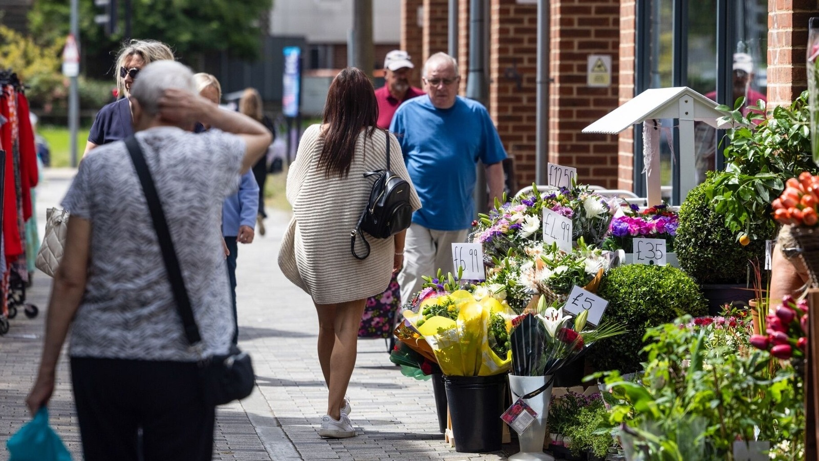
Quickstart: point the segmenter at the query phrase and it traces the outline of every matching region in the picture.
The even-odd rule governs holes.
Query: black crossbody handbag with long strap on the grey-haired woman
[[[162,258],[165,260],[165,268],[168,271],[170,286],[174,290],[176,312],[182,318],[188,344],[196,346],[201,341],[199,327],[193,318],[191,300],[188,298],[188,290],[185,289],[185,281],[182,278],[182,271],[179,269],[179,259],[176,258],[174,242],[170,239],[170,230],[168,230],[168,221],[165,220],[162,203],[159,201],[159,195],[156,194],[156,186],[151,171],[148,170],[143,150],[139,147],[139,143],[133,135],[125,139],[125,145],[131,154],[133,167],[137,170],[139,182],[142,183],[143,193],[148,203],[148,210],[151,212],[156,237],[162,249]],[[237,399],[244,399],[251,395],[253,386],[256,385],[251,356],[233,345],[228,354],[215,354],[203,358],[199,362],[199,382],[202,397],[208,405],[215,406],[227,404]]]

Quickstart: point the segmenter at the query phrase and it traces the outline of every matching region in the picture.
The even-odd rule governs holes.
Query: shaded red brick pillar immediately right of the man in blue
[[[515,0],[491,0],[490,5],[487,108],[523,187],[535,182],[536,171],[537,5]]]

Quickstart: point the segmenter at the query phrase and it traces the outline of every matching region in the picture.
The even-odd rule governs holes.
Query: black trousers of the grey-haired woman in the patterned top
[[[212,459],[196,363],[71,358],[71,381],[86,461]]]

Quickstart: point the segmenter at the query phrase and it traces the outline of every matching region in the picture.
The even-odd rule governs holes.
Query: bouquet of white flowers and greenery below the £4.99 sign
[[[595,282],[609,270],[609,258],[604,252],[586,246],[582,238],[572,253],[563,253],[557,244],[532,242],[519,254],[493,261],[495,265],[486,271],[484,287],[516,313],[523,313],[538,294],[551,302],[564,299],[574,285],[595,291]]]

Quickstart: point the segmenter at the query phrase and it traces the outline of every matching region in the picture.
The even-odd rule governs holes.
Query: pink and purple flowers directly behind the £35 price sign
[[[622,216],[616,216],[609,225],[609,236],[603,244],[604,249],[623,249],[634,253],[631,248],[635,238],[663,239],[667,251],[674,251],[676,227],[679,216],[667,205],[657,205],[640,211],[637,205],[623,207]]]

